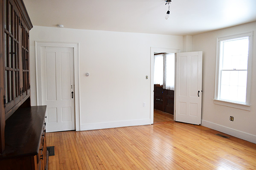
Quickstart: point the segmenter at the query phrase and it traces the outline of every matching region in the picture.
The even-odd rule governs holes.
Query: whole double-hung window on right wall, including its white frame
[[[216,101],[250,105],[251,37],[252,32],[217,38]]]

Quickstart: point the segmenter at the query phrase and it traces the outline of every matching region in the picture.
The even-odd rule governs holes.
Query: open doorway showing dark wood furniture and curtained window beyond
[[[154,52],[154,124],[173,121],[175,53]]]

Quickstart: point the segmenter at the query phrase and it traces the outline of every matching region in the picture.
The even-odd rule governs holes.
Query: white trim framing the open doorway
[[[180,50],[172,48],[150,48],[150,124],[154,123],[154,52],[162,53],[179,53]],[[176,59],[176,54],[175,54]],[[176,63],[176,62],[175,62]],[[176,70],[175,70],[175,83],[176,83]],[[174,88],[175,91],[175,88]],[[174,94],[174,119],[175,119],[175,94]]]

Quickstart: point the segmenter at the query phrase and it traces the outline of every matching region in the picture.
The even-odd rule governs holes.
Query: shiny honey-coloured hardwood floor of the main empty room
[[[47,133],[49,170],[256,169],[256,144],[216,133],[180,122]]]

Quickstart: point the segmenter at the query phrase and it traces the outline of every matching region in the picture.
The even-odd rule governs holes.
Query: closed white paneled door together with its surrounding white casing
[[[35,44],[37,105],[47,105],[47,132],[80,130],[79,44]]]

